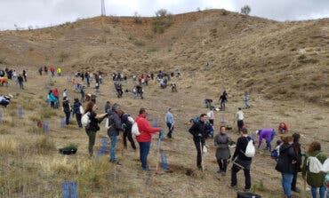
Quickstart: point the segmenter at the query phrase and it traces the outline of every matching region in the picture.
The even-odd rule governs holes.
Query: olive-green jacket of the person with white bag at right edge
[[[303,166],[302,166],[302,177],[305,178],[307,175],[306,181],[308,182],[309,186],[312,187],[321,187],[325,186],[325,173],[319,172],[319,173],[313,173],[309,172],[309,166],[307,165],[307,161],[309,156],[317,156],[318,161],[320,161],[322,164],[324,164],[325,159],[327,158],[327,155],[321,151],[314,151],[310,154],[306,155],[306,159],[304,160]]]

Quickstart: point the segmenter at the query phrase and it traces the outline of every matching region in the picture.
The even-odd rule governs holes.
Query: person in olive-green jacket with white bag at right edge
[[[307,161],[310,156],[316,156],[318,161],[322,164],[325,162],[327,155],[321,151],[321,145],[319,142],[314,141],[309,145],[309,151],[305,156],[301,170],[302,178],[306,178],[309,186],[311,186],[312,197],[317,198],[317,188],[319,187],[320,198],[325,198],[325,172],[313,173],[309,171]]]

